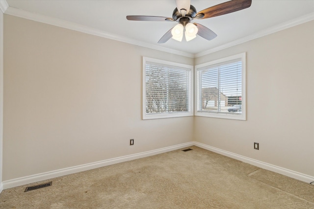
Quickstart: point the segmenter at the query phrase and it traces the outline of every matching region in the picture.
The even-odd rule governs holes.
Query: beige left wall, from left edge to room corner
[[[194,64],[4,15],[3,181],[191,141],[193,117],[141,119],[142,56]]]

